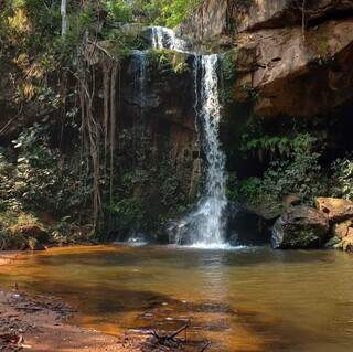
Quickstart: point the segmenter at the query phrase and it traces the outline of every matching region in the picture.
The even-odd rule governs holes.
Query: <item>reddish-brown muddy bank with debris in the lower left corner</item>
[[[11,265],[21,254],[0,254],[0,265]],[[0,351],[138,352],[146,338],[113,337],[66,323],[75,309],[50,296],[30,296],[14,285],[0,287]]]

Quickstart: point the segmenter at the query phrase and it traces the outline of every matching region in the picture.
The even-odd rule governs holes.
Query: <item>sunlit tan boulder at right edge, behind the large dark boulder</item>
[[[318,198],[315,203],[318,210],[325,213],[332,224],[353,218],[353,202],[349,200],[339,198]],[[344,225],[341,225],[339,231],[342,226]]]

